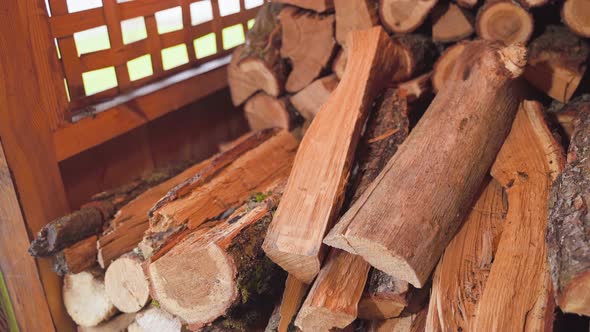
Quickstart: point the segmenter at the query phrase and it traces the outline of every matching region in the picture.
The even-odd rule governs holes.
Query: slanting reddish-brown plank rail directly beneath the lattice
[[[56,158],[67,159],[221,90],[227,86],[226,76],[223,66],[60,128],[53,136]]]

